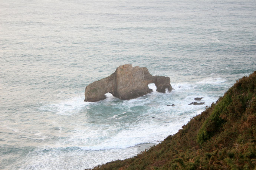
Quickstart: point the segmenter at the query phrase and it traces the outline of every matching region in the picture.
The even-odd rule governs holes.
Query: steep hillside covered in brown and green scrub
[[[135,157],[95,170],[256,169],[256,71],[175,135]]]

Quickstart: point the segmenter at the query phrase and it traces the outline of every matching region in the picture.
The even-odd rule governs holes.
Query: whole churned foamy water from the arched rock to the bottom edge
[[[216,80],[213,79],[213,82]],[[84,109],[84,112],[79,114],[82,117],[89,116],[90,120],[86,123],[70,120],[72,126],[69,126],[68,130],[58,132],[58,140],[47,146],[49,151],[38,149],[27,157],[29,161],[24,164],[24,169],[81,169],[81,166],[89,168],[111,160],[134,156],[138,153],[138,145],[157,144],[168,135],[176,133],[193,116],[200,114],[206,105],[216,101],[216,98],[207,93],[195,91],[200,85],[181,82],[172,84],[175,90],[171,93],[158,93],[156,86],[150,84],[152,93],[132,100],[116,102],[111,93],[106,93],[104,101],[93,104],[83,102],[83,96],[79,96],[47,105],[46,108],[64,115],[78,113]],[[196,97],[203,97],[200,102],[205,104],[188,105],[194,102]],[[175,106],[166,106],[167,104]],[[86,105],[88,107],[85,107]],[[109,105],[118,111],[95,111],[101,110],[102,107],[108,108]]]

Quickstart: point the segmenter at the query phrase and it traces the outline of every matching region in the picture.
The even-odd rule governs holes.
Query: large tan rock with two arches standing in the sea
[[[85,88],[85,101],[96,102],[105,99],[106,93],[128,100],[143,96],[152,92],[148,84],[154,83],[157,91],[165,93],[173,88],[170,85],[170,78],[165,76],[152,76],[146,67],[132,67],[131,64],[121,65],[110,76],[95,81]]]

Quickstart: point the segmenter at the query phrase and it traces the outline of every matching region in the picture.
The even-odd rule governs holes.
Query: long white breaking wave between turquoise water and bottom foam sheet
[[[165,115],[167,116],[167,115]],[[171,120],[171,116],[168,120]],[[158,120],[158,118],[161,118]],[[185,117],[176,118],[184,119]],[[78,146],[83,150],[125,149],[141,143],[157,143],[164,137],[176,132],[175,127],[183,125],[180,122],[167,123],[163,115],[149,121],[132,123],[129,127],[120,129],[120,126],[94,126],[86,129],[77,129],[69,134],[65,141],[52,145],[54,147]],[[165,122],[163,122],[165,121]],[[62,140],[62,139],[61,139]]]

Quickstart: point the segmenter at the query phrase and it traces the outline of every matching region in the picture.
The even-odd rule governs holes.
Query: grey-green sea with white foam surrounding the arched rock
[[[169,76],[175,90],[83,102],[86,85],[123,64]],[[255,70],[255,0],[2,0],[0,170],[135,156]],[[205,104],[188,105],[195,97]]]

